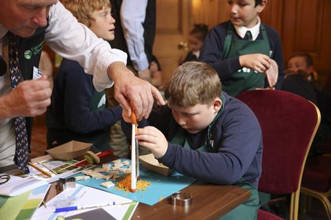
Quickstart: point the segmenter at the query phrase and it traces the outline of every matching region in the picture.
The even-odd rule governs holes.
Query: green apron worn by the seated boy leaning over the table
[[[215,116],[214,120],[212,123],[208,126],[208,133],[205,138],[205,144],[203,146],[200,146],[199,148],[196,149],[196,151],[201,151],[201,152],[209,152],[209,153],[216,153],[218,149],[214,148],[213,141],[211,140],[211,133],[210,130],[212,128],[212,125],[214,122],[217,121],[219,118],[219,115],[221,115],[224,105],[225,105],[225,100],[223,96],[221,96],[222,100],[222,108],[217,113]],[[180,128],[179,131],[177,132],[176,135],[172,138],[170,141],[172,144],[179,144],[183,146],[184,148],[190,148],[190,144],[188,143],[188,140],[185,135],[184,129]],[[191,149],[191,148],[190,148]],[[252,184],[245,182],[243,178],[239,179],[237,183],[234,184],[234,186],[238,186],[240,188],[244,188],[246,190],[250,190],[250,199],[246,201],[245,203],[241,204],[237,208],[234,208],[232,211],[228,212],[228,214],[225,214],[223,217],[221,217],[221,220],[237,220],[237,219],[257,219],[257,210],[259,210],[260,205],[259,205],[259,194],[257,191],[257,188],[252,186]]]

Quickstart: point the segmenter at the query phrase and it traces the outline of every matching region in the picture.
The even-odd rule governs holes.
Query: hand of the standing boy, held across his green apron
[[[271,59],[264,54],[246,54],[239,56],[241,67],[254,69],[257,72],[264,73],[270,67]]]

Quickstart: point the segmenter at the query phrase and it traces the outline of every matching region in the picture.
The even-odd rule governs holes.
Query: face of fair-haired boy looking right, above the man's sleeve
[[[110,12],[111,8],[95,10],[91,14],[93,19],[91,19],[89,27],[94,34],[106,41],[114,40],[115,19],[112,18]]]

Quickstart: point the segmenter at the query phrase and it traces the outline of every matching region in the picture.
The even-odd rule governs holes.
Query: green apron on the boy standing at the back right
[[[267,32],[261,24],[260,30],[263,36],[262,40],[246,41],[243,39],[232,39],[234,28],[232,23],[228,26],[225,37],[224,52],[222,60],[234,58],[245,54],[265,54],[270,56],[270,45]],[[258,73],[254,69],[243,67],[232,74],[232,78],[222,81],[222,89],[230,96],[237,96],[241,91],[253,90],[255,88],[265,87],[265,74]]]

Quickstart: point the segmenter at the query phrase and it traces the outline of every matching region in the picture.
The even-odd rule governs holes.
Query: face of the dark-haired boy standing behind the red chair
[[[252,28],[265,8],[266,1],[255,7],[255,0],[228,0],[228,14],[233,25]]]

